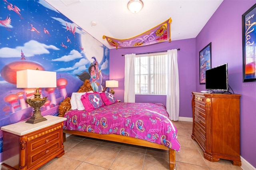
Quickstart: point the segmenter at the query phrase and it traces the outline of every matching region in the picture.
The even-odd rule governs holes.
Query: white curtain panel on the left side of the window
[[[136,54],[124,55],[124,102],[135,103],[135,69]]]

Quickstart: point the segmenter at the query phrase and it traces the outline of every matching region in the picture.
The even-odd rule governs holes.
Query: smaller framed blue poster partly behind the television
[[[212,42],[199,52],[199,77],[200,84],[205,84],[205,71],[211,68]]]

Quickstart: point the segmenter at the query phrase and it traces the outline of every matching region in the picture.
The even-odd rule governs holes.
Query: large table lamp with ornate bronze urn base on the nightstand
[[[38,70],[20,70],[16,72],[17,88],[36,88],[33,99],[26,99],[26,103],[34,108],[32,117],[26,123],[36,124],[47,119],[41,115],[40,108],[47,100],[47,97],[40,98],[39,88],[57,87],[56,72]]]

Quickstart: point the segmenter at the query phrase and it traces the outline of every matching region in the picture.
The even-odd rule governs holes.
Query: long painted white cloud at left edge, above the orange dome
[[[2,58],[12,58],[20,57],[21,50],[26,57],[32,57],[39,54],[48,54],[50,53],[48,49],[59,50],[54,45],[46,45],[44,43],[39,43],[35,40],[30,40],[29,42],[24,43],[23,46],[17,46],[15,48],[3,47],[0,49],[0,57]]]

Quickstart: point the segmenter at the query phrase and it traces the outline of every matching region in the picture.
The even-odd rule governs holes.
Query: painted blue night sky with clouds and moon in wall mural
[[[95,56],[109,75],[109,49],[44,0],[0,0],[0,6],[0,20],[11,21],[7,27],[0,22],[0,70],[20,60],[22,50],[45,70],[71,75],[88,71]],[[19,8],[20,15],[8,6]],[[2,77],[0,82],[6,83]]]

